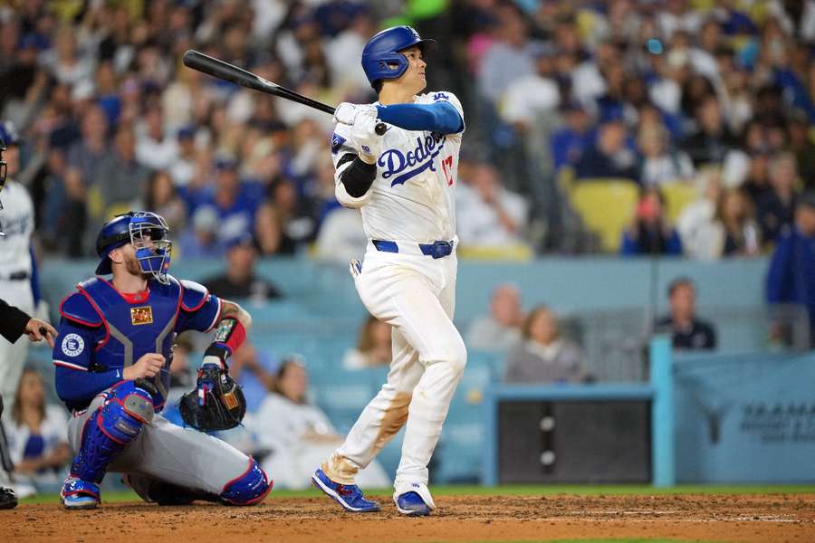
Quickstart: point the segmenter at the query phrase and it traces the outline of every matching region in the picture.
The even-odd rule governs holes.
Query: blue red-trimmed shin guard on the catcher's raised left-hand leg
[[[133,381],[114,385],[106,395],[85,423],[82,445],[71,465],[71,474],[82,481],[100,482],[110,461],[153,420],[149,392]]]

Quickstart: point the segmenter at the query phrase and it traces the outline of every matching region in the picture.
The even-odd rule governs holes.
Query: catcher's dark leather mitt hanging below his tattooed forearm
[[[196,389],[181,396],[178,409],[185,424],[202,432],[214,432],[241,424],[246,400],[225,364],[205,363],[198,369]]]

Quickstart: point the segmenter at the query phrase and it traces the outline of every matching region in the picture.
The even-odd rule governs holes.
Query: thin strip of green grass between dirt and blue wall
[[[815,485],[680,485],[673,489],[656,489],[646,485],[502,485],[494,488],[483,486],[434,486],[434,496],[540,496],[570,494],[573,496],[625,496],[625,495],[669,495],[669,494],[815,494]],[[367,494],[388,496],[391,489],[366,489]],[[315,489],[307,491],[278,491],[269,494],[270,500],[286,498],[307,498],[321,496]],[[138,501],[132,491],[102,492],[102,501]],[[56,494],[41,494],[21,500],[21,503],[56,503]]]

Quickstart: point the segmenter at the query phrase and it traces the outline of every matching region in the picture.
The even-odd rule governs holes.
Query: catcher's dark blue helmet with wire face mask
[[[133,245],[141,271],[167,284],[172,242],[169,226],[161,215],[149,211],[130,211],[116,215],[102,226],[96,238],[96,253],[101,257],[97,275],[112,273],[110,252],[127,243]]]

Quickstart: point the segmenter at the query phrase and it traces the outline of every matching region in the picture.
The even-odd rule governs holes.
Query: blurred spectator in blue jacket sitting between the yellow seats
[[[634,224],[622,236],[620,253],[682,254],[682,241],[676,229],[668,222],[665,197],[656,187],[643,189],[639,196]]]

